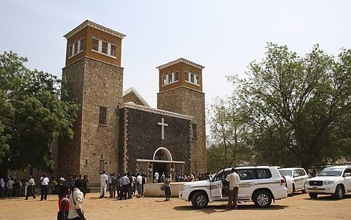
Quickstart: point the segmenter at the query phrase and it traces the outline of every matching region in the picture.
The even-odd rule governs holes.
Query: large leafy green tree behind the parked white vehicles
[[[350,155],[351,50],[304,57],[267,44],[247,77],[230,77],[258,162],[309,168]]]

